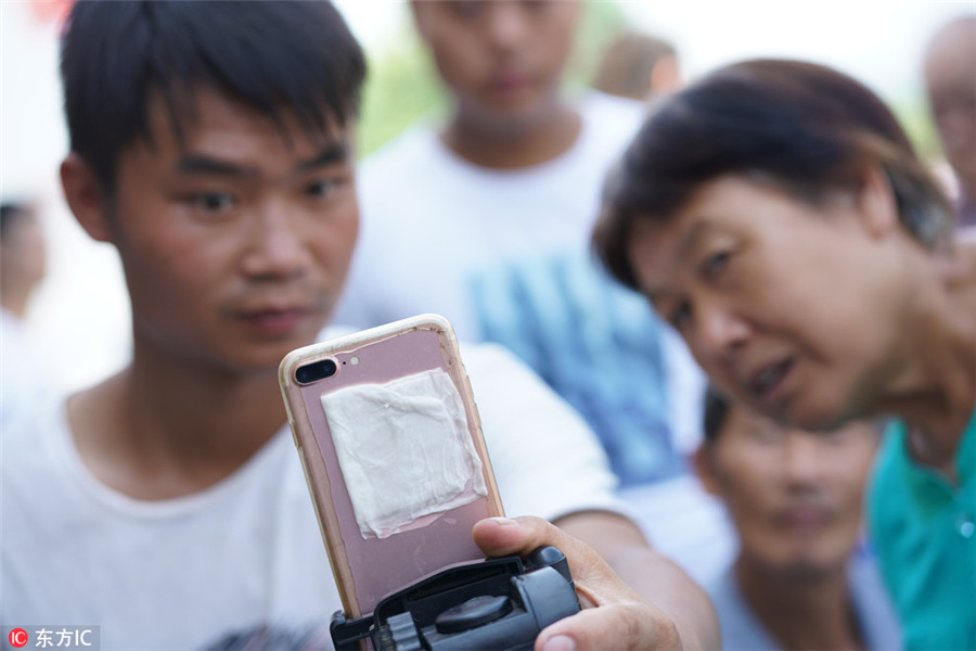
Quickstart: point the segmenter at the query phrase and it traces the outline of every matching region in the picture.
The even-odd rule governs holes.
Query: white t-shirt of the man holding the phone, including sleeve
[[[503,348],[463,356],[508,514],[618,510],[575,412]],[[24,424],[0,441],[0,624],[98,625],[105,650],[243,648],[228,637],[260,627],[251,648],[329,639],[339,599],[286,430],[217,485],[147,502],[89,472],[63,403]]]

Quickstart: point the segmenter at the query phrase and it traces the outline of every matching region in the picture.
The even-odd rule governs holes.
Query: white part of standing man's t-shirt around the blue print
[[[523,169],[474,165],[415,127],[359,170],[361,227],[336,320],[372,327],[424,312],[479,339],[468,273],[480,266],[585,246],[603,180],[643,116],[640,102],[599,92],[577,106],[566,153]]]

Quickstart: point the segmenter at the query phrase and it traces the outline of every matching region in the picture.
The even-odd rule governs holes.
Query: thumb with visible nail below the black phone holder
[[[580,611],[547,627],[535,651],[671,651],[681,648],[673,622],[630,601]]]

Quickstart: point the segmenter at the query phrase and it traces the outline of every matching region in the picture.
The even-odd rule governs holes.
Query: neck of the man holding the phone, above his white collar
[[[125,371],[70,398],[68,419],[95,476],[147,500],[216,484],[286,421],[277,369],[215,370],[139,343]]]

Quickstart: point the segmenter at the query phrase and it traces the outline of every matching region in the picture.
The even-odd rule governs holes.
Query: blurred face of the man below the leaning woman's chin
[[[878,441],[875,426],[792,430],[714,390],[705,409],[698,475],[728,508],[741,562],[795,579],[843,569],[858,541],[864,480]]]

